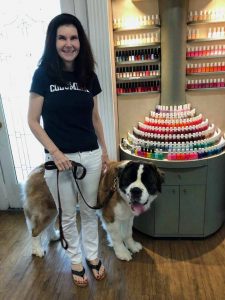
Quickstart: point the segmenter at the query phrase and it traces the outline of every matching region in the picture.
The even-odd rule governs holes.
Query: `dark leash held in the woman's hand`
[[[80,190],[80,187],[79,187],[79,184],[77,182],[77,180],[81,180],[85,177],[86,173],[87,173],[87,170],[86,168],[78,163],[78,162],[75,162],[75,161],[70,161],[71,164],[72,164],[72,173],[73,173],[73,178],[74,178],[74,181],[76,183],[76,186],[77,186],[77,189],[81,195],[81,198],[83,199],[84,203],[91,209],[101,209],[106,203],[108,203],[108,201],[110,200],[110,198],[112,197],[113,193],[116,191],[116,187],[117,187],[117,177],[114,178],[114,181],[113,181],[113,186],[111,187],[110,191],[109,191],[109,194],[107,195],[104,203],[102,205],[95,205],[95,206],[90,206],[87,201],[85,200],[81,190]],[[57,197],[58,197],[58,210],[59,210],[59,232],[60,232],[60,242],[61,242],[61,245],[62,247],[67,250],[68,249],[68,242],[67,240],[65,239],[64,237],[64,233],[63,233],[63,228],[62,228],[62,206],[61,206],[61,198],[60,198],[60,193],[59,193],[59,170],[56,166],[56,164],[54,163],[54,161],[47,161],[45,162],[44,164],[44,167],[46,170],[57,170]],[[78,168],[81,168],[82,172],[80,173],[80,175],[78,176],[77,174],[77,169]]]

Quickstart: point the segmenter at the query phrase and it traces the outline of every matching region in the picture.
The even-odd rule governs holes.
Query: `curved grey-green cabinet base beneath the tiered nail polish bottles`
[[[154,163],[165,172],[162,193],[134,227],[152,237],[203,238],[225,220],[225,152],[192,161],[150,160],[120,147],[121,160]]]

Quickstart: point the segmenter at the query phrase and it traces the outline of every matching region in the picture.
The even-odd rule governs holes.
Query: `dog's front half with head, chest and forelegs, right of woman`
[[[115,180],[116,190],[108,199]],[[132,254],[142,249],[132,237],[133,220],[150,209],[163,182],[161,170],[152,163],[140,161],[111,162],[107,172],[102,174],[98,204],[103,206],[101,220],[117,258],[130,261]]]

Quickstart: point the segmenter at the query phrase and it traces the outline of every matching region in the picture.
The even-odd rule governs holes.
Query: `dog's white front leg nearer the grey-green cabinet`
[[[127,221],[122,224],[122,231],[124,234],[124,243],[126,247],[132,252],[137,253],[142,249],[142,245],[136,241],[134,241],[132,236],[132,227],[133,227],[134,217],[130,217]]]

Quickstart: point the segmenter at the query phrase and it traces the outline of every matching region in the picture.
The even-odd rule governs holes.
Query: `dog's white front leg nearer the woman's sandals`
[[[132,256],[130,251],[125,247],[121,235],[121,223],[115,220],[112,223],[107,223],[107,231],[112,240],[112,245],[116,256],[121,260],[131,260]]]

